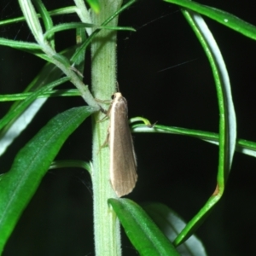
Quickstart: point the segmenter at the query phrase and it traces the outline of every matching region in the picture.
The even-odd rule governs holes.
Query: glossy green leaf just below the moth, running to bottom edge
[[[113,207],[126,235],[140,255],[179,255],[142,207],[129,199],[109,199],[108,203]]]

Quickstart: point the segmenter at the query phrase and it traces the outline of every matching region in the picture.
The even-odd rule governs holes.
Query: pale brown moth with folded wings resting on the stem
[[[121,93],[113,94],[108,109],[108,147],[110,149],[110,182],[119,197],[131,193],[137,182],[137,161],[128,123],[127,102]]]

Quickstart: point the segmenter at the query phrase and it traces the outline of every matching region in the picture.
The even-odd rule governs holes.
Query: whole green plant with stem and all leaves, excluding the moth
[[[109,2],[109,3],[108,3]],[[43,69],[21,93],[1,95],[1,102],[15,103],[0,121],[0,153],[3,154],[32,122],[51,97],[80,96],[88,106],[70,108],[49,120],[16,154],[9,172],[0,180],[0,252],[18,224],[32,196],[49,169],[81,167],[90,173],[93,186],[94,232],[96,255],[120,255],[119,221],[132,245],[141,255],[207,255],[195,231],[210,215],[224,195],[225,185],[235,151],[255,156],[256,143],[236,138],[236,113],[230,78],[218,44],[201,15],[255,39],[255,26],[235,15],[188,0],[165,0],[177,4],[205,51],[215,82],[218,100],[218,133],[197,131],[170,125],[150,125],[148,119],[131,119],[131,130],[143,133],[178,134],[199,138],[218,146],[216,189],[205,205],[186,224],[171,208],[160,203],[140,207],[135,201],[118,198],[109,183],[109,150],[103,147],[108,136],[108,121],[103,112],[116,89],[116,32],[135,32],[132,27],[118,26],[118,16],[135,0],[121,6],[120,1],[75,0],[73,6],[49,10],[40,0],[20,0],[21,17],[0,21],[0,26],[26,22],[35,42],[0,38],[4,47],[19,49],[46,61]],[[110,4],[111,3],[111,4]],[[75,14],[79,22],[55,24],[54,17]],[[57,50],[57,34],[76,32],[76,44]],[[91,84],[84,84],[84,63],[91,54]],[[87,59],[86,59],[87,58]],[[122,65],[121,63],[119,65]],[[61,78],[64,74],[64,78]],[[68,88],[59,87],[67,84]],[[70,83],[75,89],[70,88]],[[56,89],[58,88],[58,89]],[[40,114],[40,113],[38,113]],[[92,158],[55,160],[67,138],[82,124],[92,119]],[[25,120],[25,121],[24,121]],[[138,123],[139,122],[139,123]],[[103,145],[103,146],[102,146]],[[139,155],[137,156],[139,158]],[[55,160],[55,161],[54,161]],[[119,218],[119,221],[117,221]]]

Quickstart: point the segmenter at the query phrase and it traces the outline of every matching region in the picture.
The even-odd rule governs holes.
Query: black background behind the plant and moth
[[[44,1],[48,9],[61,7],[58,2]],[[253,1],[199,2],[256,24]],[[67,6],[73,2],[61,1],[61,4]],[[1,1],[1,20],[18,15],[16,1]],[[55,18],[56,23],[69,20],[77,19],[75,15]],[[256,43],[206,20],[230,73],[238,137],[256,141]],[[118,81],[129,104],[129,116],[143,116],[162,125],[218,132],[212,72],[179,8],[156,0],[138,1],[120,16],[119,24],[137,29],[137,32],[119,32],[118,40]],[[32,42],[25,23],[0,27],[0,37]],[[66,32],[60,33],[57,49],[74,44],[73,38],[73,32],[68,36]],[[40,71],[44,61],[1,46],[0,65],[0,93],[18,93]],[[161,71],[168,67],[172,68]],[[90,69],[85,71],[86,83],[90,83],[89,74]],[[83,104],[79,97],[49,99],[1,158],[1,172],[9,170],[19,148],[50,118]],[[1,103],[0,117],[9,106]],[[90,160],[90,137],[90,120],[87,120],[67,140],[57,159]],[[134,134],[133,137],[139,179],[128,197],[138,203],[162,202],[189,221],[215,189],[218,148],[177,135]],[[252,157],[235,154],[224,196],[196,233],[208,255],[256,253],[255,166]],[[80,169],[49,171],[21,216],[3,255],[94,255],[92,224],[89,175]],[[125,236],[123,253],[137,255]]]

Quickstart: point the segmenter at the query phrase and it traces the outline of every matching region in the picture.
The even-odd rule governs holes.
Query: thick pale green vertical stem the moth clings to
[[[120,8],[120,0],[101,0],[101,11],[92,14],[92,23],[101,25]],[[116,26],[117,18],[108,25]],[[116,32],[102,30],[91,44],[91,84],[93,95],[100,100],[109,100],[116,90]],[[108,105],[105,105],[108,108]],[[109,149],[106,143],[108,120],[99,122],[105,115],[97,113],[93,120],[93,199],[94,233],[96,256],[121,255],[119,220],[108,207],[108,199],[116,198],[109,182]]]

